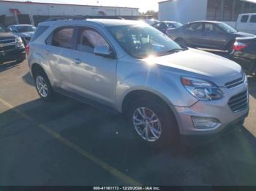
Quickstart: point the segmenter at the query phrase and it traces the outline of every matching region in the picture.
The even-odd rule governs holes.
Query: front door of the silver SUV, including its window
[[[72,83],[75,93],[91,101],[113,106],[116,101],[116,58],[94,54],[94,47],[112,47],[94,28],[79,27],[72,57]]]

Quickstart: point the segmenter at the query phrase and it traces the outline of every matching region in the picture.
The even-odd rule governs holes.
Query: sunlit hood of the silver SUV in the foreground
[[[189,49],[162,57],[152,58],[159,69],[176,71],[180,75],[197,77],[214,82],[219,87],[243,77],[237,63],[202,50]]]

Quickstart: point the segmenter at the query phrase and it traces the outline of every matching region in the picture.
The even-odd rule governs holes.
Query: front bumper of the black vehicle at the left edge
[[[15,50],[5,50],[0,51],[0,61],[15,61],[15,60],[24,60],[26,58],[25,48],[20,47]]]

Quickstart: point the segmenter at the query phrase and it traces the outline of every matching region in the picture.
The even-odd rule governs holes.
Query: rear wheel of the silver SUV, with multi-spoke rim
[[[34,75],[34,83],[40,98],[45,101],[53,100],[53,87],[50,85],[50,81],[45,72],[37,71]]]

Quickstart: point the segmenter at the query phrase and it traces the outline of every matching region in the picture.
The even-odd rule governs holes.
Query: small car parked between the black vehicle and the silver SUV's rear
[[[8,30],[11,31],[13,34],[20,36],[26,46],[26,44],[29,44],[31,37],[34,34],[34,31],[36,31],[36,27],[32,25],[14,25],[9,26]]]

